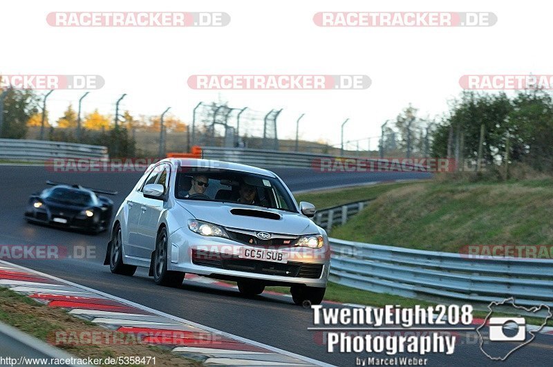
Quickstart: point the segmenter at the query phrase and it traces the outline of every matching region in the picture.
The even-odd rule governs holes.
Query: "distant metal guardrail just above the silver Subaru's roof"
[[[312,154],[288,151],[270,151],[264,149],[247,148],[223,148],[223,147],[203,147],[203,158],[211,160],[223,160],[227,162],[249,164],[262,168],[312,168],[312,169],[332,169],[332,164],[337,160],[337,156],[328,154]],[[351,160],[350,164],[354,166],[363,160],[379,162],[379,158],[362,157],[340,157],[344,160]],[[382,160],[386,164],[388,160]],[[324,167],[321,167],[324,166]],[[429,167],[422,164],[404,164],[406,167],[413,167],[413,171],[426,172]],[[347,171],[347,169],[344,169]]]

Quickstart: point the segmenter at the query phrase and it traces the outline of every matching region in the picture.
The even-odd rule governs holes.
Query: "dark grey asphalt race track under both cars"
[[[314,173],[309,169],[275,171],[292,191],[429,176],[427,173]],[[117,190],[120,194],[113,199],[115,207],[119,207],[140,176],[140,173],[55,173],[44,167],[0,166],[0,245],[62,245],[68,248],[69,254],[75,248],[88,247],[95,254],[80,259],[4,260],[335,366],[355,366],[356,357],[368,357],[366,353],[328,353],[321,333],[308,330],[313,326],[312,311],[294,305],[287,297],[261,295],[246,299],[237,290],[191,281],[185,281],[180,290],[164,288],[155,285],[146,270],[138,270],[133,277],[111,274],[109,267],[102,265],[109,233],[81,234],[31,225],[23,218],[28,195],[43,189],[46,180]],[[460,344],[453,355],[424,356],[429,359],[428,365],[548,366],[553,359],[553,336],[550,335],[537,335],[531,344],[517,350],[505,362],[487,359],[475,335],[475,332],[460,334]],[[496,348],[509,346],[503,344]]]

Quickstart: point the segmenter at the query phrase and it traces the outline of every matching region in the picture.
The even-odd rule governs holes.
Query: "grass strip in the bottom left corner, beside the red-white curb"
[[[39,303],[26,296],[17,294],[12,290],[8,290],[7,288],[0,288],[0,321],[18,328],[22,332],[26,332],[28,335],[32,335],[37,339],[55,344],[57,348],[61,348],[79,358],[91,357],[105,359],[106,357],[140,356],[155,357],[156,366],[203,366],[203,364],[199,362],[174,355],[170,350],[164,348],[133,343],[132,340],[125,338],[122,334],[119,334],[117,339],[130,341],[129,345],[121,345],[124,343],[112,345],[86,343],[81,345],[75,345],[76,343],[57,345],[53,343],[55,341],[56,332],[64,332],[66,335],[75,336],[79,335],[80,332],[97,333],[97,335],[118,333],[96,326],[90,321],[74,317],[61,308],[50,308],[44,305],[44,303]],[[117,335],[115,335],[115,337],[117,337]],[[150,361],[150,366],[152,363],[153,360]],[[126,364],[124,366],[143,365]]]

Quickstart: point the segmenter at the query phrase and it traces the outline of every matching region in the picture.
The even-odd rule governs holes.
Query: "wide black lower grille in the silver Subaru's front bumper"
[[[293,276],[318,279],[321,277],[323,265],[294,263],[271,263],[269,261],[250,260],[238,256],[192,250],[192,263],[195,265],[217,267],[238,272],[251,272],[265,275]]]

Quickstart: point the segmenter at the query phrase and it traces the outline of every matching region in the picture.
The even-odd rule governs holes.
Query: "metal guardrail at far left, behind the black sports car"
[[[87,145],[47,140],[0,139],[0,159],[23,162],[44,162],[55,158],[95,158],[107,160],[108,149]]]

